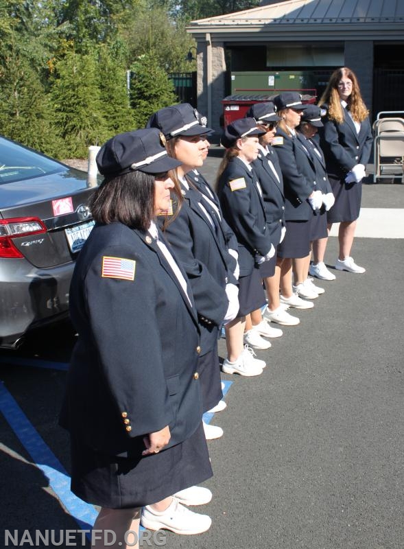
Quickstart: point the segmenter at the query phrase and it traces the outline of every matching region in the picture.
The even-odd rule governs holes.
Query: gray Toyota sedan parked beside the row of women
[[[0,347],[68,315],[96,188],[85,172],[0,137]]]

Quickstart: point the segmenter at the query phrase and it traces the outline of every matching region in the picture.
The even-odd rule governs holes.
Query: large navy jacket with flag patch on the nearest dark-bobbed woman
[[[133,280],[117,278],[123,269]],[[198,320],[156,241],[118,222],[95,226],[70,307],[79,337],[60,424],[113,456],[139,452],[139,437],[165,425],[167,447],[188,439],[202,417]]]

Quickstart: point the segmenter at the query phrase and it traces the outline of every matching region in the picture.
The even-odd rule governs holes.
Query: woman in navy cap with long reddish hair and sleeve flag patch
[[[222,135],[222,145],[227,150],[217,173],[217,194],[226,222],[237,238],[240,268],[240,308],[233,323],[226,325],[228,355],[222,370],[247,376],[261,374],[265,366],[265,361],[254,358],[248,343],[243,349],[242,338],[246,316],[265,303],[258,264],[269,261],[275,253],[262,190],[250,166],[257,159],[258,136],[263,133],[253,118],[228,124]]]

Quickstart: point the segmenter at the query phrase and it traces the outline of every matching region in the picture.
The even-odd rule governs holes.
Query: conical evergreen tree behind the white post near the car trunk
[[[95,55],[70,52],[56,62],[51,86],[54,124],[64,146],[59,158],[85,157],[108,137]]]

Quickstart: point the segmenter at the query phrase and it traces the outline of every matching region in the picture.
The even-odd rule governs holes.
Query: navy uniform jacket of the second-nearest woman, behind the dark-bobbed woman
[[[219,327],[226,316],[228,299],[225,288],[229,280],[226,256],[212,226],[199,206],[200,192],[191,187],[183,190],[184,202],[164,234],[181,261],[191,284],[201,329],[201,355],[216,349]],[[175,212],[175,200],[173,200]],[[206,202],[202,202],[205,209]],[[159,216],[159,224],[165,217]],[[233,273],[232,273],[233,276]]]

